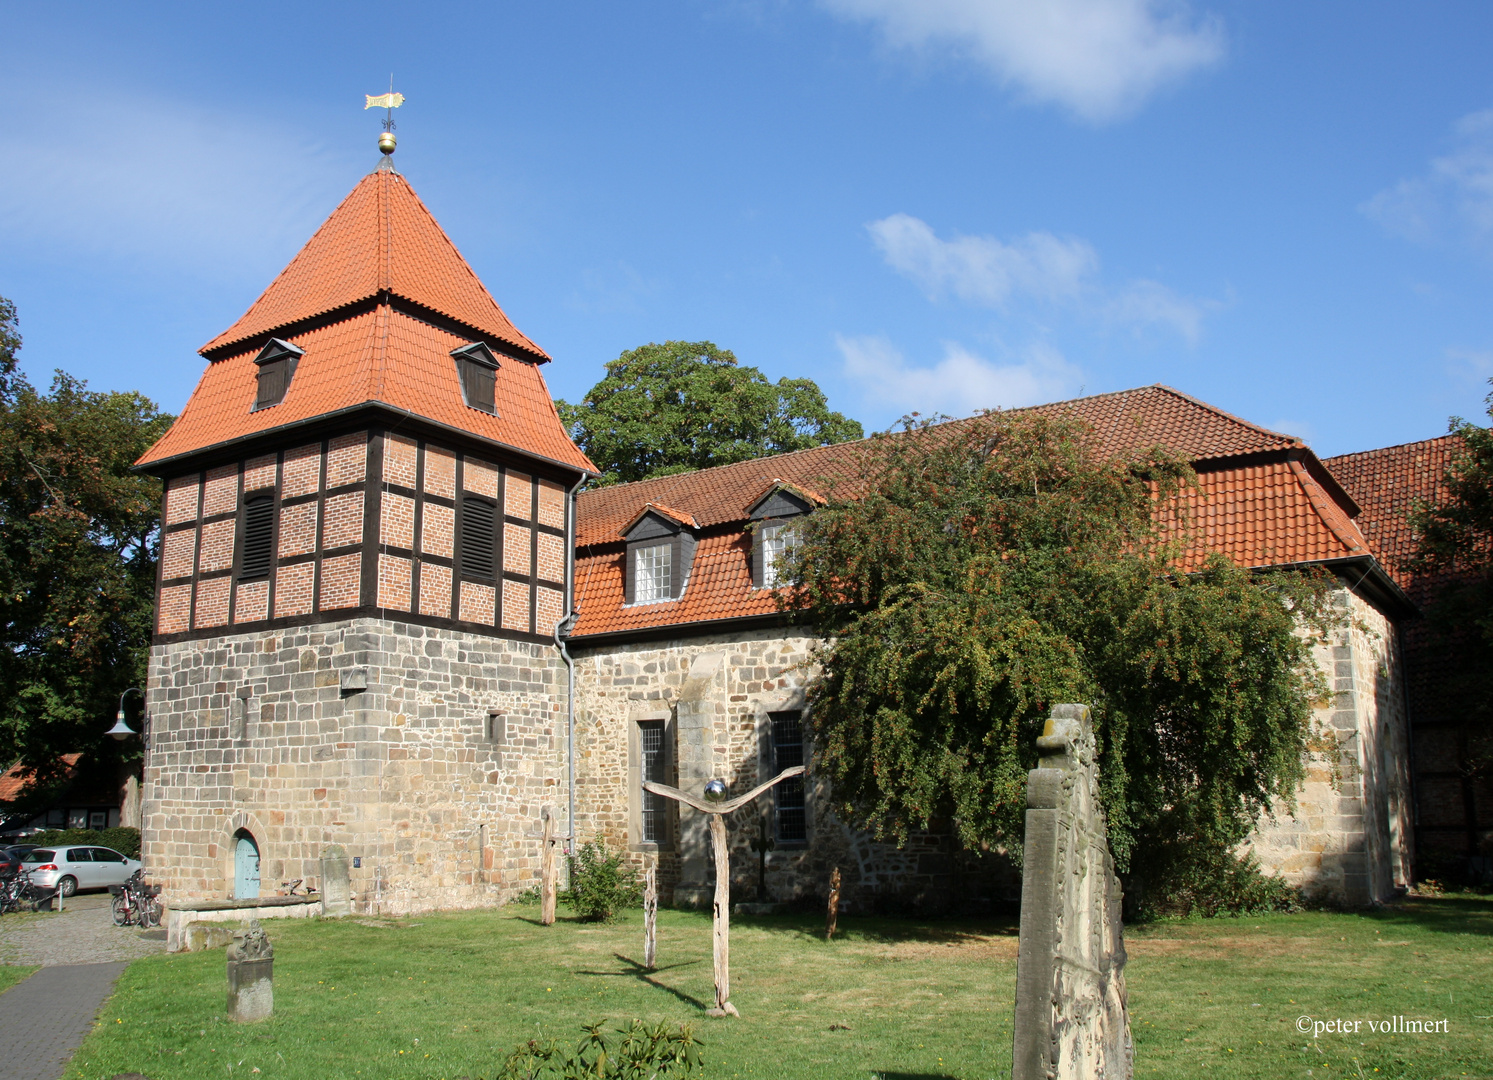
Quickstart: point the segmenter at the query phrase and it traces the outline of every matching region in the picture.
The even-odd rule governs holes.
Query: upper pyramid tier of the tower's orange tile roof
[[[202,353],[381,293],[437,311],[539,360],[549,359],[508,320],[409,181],[387,169],[364,176],[264,294]]]

